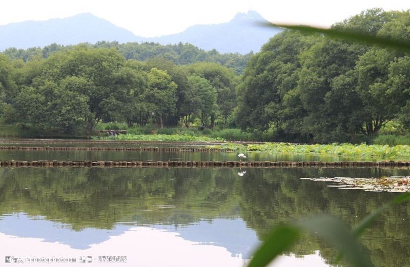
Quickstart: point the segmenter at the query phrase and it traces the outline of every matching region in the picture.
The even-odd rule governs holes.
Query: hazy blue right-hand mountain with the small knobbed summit
[[[151,38],[151,41],[162,45],[190,43],[204,50],[247,54],[250,51],[258,52],[270,37],[281,31],[256,25],[266,21],[258,12],[249,11],[236,14],[228,23],[195,25],[181,33]]]

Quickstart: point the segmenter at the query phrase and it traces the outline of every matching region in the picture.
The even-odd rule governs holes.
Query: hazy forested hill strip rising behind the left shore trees
[[[114,48],[122,56],[128,59],[146,61],[155,57],[165,58],[172,61],[175,65],[188,65],[197,62],[213,62],[219,63],[222,66],[232,68],[237,74],[243,72],[249,59],[253,56],[253,52],[241,55],[239,53],[221,54],[215,49],[205,51],[191,44],[177,45],[160,45],[157,43],[126,43],[118,44],[118,42],[98,42],[94,45],[82,44],[89,48]],[[38,57],[48,58],[55,52],[67,51],[75,49],[76,46],[61,46],[51,44],[44,48],[33,47],[29,49],[9,48],[2,53],[11,59],[23,59],[29,61]]]

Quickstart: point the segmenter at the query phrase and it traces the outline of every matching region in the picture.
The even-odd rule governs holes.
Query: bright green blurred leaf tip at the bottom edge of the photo
[[[275,227],[253,256],[248,267],[266,266],[276,256],[283,254],[300,235],[300,229],[293,225]]]

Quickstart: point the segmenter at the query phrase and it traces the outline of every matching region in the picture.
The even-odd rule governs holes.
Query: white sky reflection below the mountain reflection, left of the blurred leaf
[[[75,250],[61,243],[44,242],[38,238],[15,238],[0,234],[0,240],[2,260],[5,256],[54,256],[74,257],[77,261],[73,264],[64,263],[64,266],[81,265],[81,256],[92,257],[87,265],[93,266],[241,266],[243,262],[241,257],[232,257],[223,247],[199,244],[185,240],[177,233],[146,227],[131,228],[122,235],[92,244],[85,251]],[[127,263],[99,263],[101,256],[124,256],[127,257]],[[44,265],[61,264],[63,263]]]

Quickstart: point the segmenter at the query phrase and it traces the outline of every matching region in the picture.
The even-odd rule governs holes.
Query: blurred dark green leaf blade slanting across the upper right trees
[[[316,28],[311,26],[303,25],[284,25],[284,24],[273,24],[269,22],[258,23],[260,26],[264,27],[279,27],[291,30],[298,30],[304,33],[321,33],[330,37],[341,38],[344,40],[349,40],[353,42],[360,42],[367,45],[377,45],[385,48],[390,48],[394,50],[400,50],[405,52],[410,52],[410,43],[403,42],[401,40],[393,40],[387,37],[374,36],[370,34],[354,33],[348,31],[341,31],[335,29],[324,29]]]

